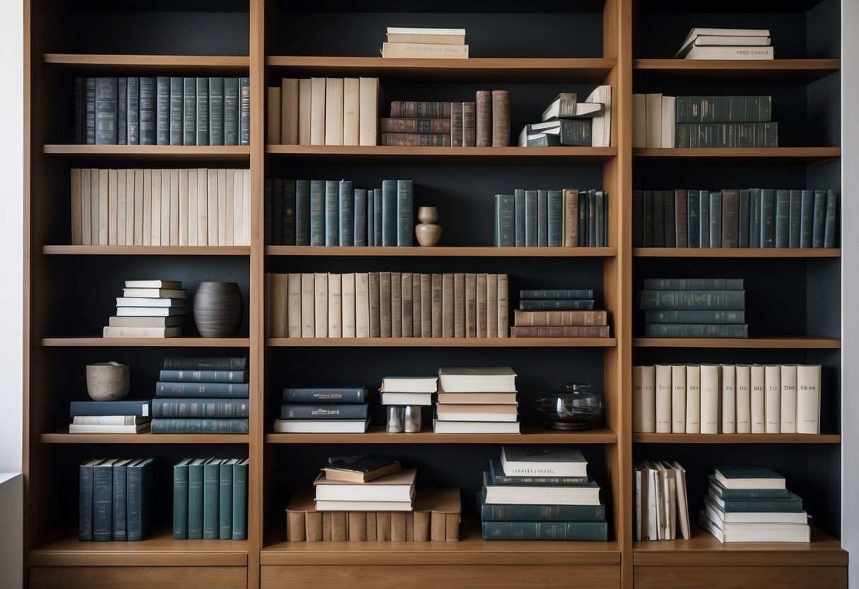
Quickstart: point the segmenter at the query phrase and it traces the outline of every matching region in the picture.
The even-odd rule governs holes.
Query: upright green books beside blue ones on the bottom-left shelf
[[[247,539],[247,458],[183,458],[173,466],[174,540]]]

